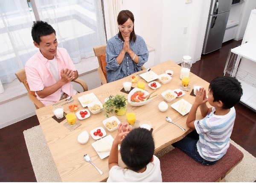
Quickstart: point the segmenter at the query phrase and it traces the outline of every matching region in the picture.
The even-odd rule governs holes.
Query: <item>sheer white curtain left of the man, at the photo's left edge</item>
[[[0,0],[0,80],[12,82],[15,72],[35,53],[32,18],[26,0]]]

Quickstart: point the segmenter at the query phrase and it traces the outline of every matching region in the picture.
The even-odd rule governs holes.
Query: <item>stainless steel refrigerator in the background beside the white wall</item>
[[[221,48],[232,0],[211,0],[202,54]]]

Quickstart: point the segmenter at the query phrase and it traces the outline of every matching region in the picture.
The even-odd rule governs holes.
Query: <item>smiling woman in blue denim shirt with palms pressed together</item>
[[[148,61],[148,48],[142,37],[134,32],[134,15],[122,10],[117,16],[119,33],[108,40],[106,70],[108,82],[122,79],[137,71]]]

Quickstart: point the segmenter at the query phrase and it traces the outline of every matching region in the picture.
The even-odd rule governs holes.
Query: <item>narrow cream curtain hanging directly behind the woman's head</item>
[[[103,0],[107,40],[118,33],[117,15],[120,3],[120,0]]]

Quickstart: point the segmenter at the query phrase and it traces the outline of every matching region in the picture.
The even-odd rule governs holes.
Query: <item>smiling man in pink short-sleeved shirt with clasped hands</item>
[[[78,72],[67,50],[57,48],[52,26],[37,21],[32,27],[32,38],[39,51],[25,65],[30,90],[44,105],[75,95],[71,81],[78,78]]]

